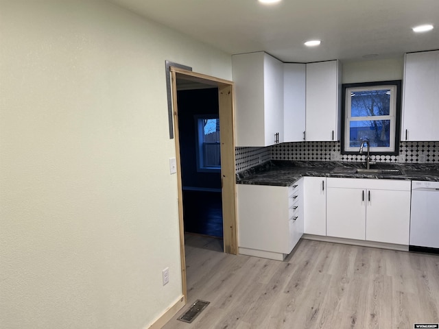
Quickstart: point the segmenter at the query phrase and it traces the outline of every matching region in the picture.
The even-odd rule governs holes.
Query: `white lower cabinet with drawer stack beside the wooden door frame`
[[[239,254],[283,260],[303,234],[302,180],[237,184],[237,213]]]

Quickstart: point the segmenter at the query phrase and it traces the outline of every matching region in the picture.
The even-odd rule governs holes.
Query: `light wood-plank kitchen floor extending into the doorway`
[[[301,240],[283,262],[187,236],[188,304],[163,328],[409,329],[439,322],[439,256]]]

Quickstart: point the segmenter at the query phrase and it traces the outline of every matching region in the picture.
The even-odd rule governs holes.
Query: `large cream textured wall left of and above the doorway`
[[[232,77],[104,1],[0,2],[1,328],[145,328],[181,296],[165,60]]]

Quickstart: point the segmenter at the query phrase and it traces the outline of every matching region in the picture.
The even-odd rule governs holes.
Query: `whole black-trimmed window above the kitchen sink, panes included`
[[[401,81],[343,85],[342,154],[358,154],[362,141],[370,154],[399,151]]]

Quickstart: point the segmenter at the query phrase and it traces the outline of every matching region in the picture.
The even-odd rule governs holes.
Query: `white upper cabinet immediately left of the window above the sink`
[[[339,141],[341,65],[338,60],[307,64],[307,141]]]

